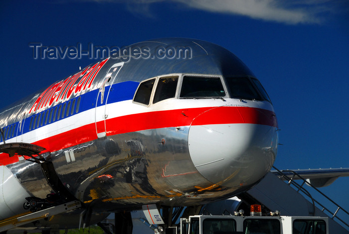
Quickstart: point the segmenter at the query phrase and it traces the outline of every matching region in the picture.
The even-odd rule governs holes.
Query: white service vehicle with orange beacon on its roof
[[[189,216],[180,220],[180,227],[158,226],[155,234],[329,234],[327,217],[278,216],[277,212],[261,216],[255,211],[250,215],[240,211],[227,216]]]

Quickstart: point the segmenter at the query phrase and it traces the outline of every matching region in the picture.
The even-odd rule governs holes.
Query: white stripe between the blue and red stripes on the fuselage
[[[229,99],[226,98],[226,101],[223,102],[220,99],[167,99],[156,104],[151,105],[150,107],[142,106],[139,104],[132,103],[132,100],[126,100],[121,102],[115,102],[107,104],[106,115],[108,119],[139,114],[147,113],[153,111],[166,111],[166,110],[175,110],[175,109],[190,109],[190,108],[200,108],[200,107],[215,107],[215,106],[246,106],[253,108],[261,108],[266,110],[273,111],[273,107],[270,103],[266,101],[249,101],[246,100],[246,103],[240,102],[238,99]],[[51,124],[47,124],[30,132],[23,134],[22,142],[32,143],[37,142],[52,136],[55,136],[60,133],[67,132],[72,129],[76,129],[91,123],[95,123],[95,113],[104,113],[105,106],[99,106],[97,108],[91,108],[90,110],[75,114],[70,117],[65,117],[59,121],[55,121]],[[105,132],[98,133],[98,137],[106,136]],[[6,140],[6,143],[15,142],[16,138]]]

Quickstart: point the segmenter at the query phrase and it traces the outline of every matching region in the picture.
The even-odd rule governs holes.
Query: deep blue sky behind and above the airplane
[[[0,108],[94,62],[33,59],[29,43],[123,46],[169,36],[219,44],[254,72],[281,129],[277,168],[349,168],[346,0],[2,0]],[[349,210],[349,178],[322,191]]]

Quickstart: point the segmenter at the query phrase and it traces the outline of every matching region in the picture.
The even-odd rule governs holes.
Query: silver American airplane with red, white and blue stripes
[[[124,47],[3,109],[0,129],[0,220],[81,203],[25,230],[230,198],[270,171],[278,148],[256,76],[227,49],[187,38]]]

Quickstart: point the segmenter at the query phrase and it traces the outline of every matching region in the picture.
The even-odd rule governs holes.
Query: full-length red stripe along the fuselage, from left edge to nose
[[[276,117],[272,111],[251,107],[227,106],[154,111],[106,119],[106,133],[107,136],[111,136],[166,127],[238,123],[277,127]],[[44,147],[47,151],[55,152],[95,139],[97,139],[96,125],[91,123],[32,144]],[[7,154],[0,154],[0,165],[15,162],[18,162],[18,157],[9,158]]]

